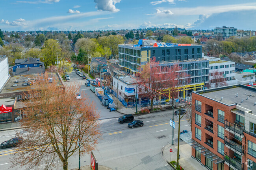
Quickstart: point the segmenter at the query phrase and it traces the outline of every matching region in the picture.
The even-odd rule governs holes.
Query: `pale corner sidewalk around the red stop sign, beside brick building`
[[[165,161],[170,162],[171,152],[172,152],[172,161],[177,161],[177,151],[178,146],[167,144],[161,150],[161,155]],[[204,166],[201,165],[197,160],[191,157],[191,146],[189,144],[180,145],[180,160],[179,165],[184,168],[184,170],[208,170]]]

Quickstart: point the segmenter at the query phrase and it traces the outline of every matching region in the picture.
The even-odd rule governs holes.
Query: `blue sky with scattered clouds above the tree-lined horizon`
[[[255,0],[1,0],[0,28],[110,30],[148,27],[255,30]]]

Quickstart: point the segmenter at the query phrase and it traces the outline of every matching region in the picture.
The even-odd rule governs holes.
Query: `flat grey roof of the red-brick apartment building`
[[[193,91],[192,93],[197,93],[228,106],[241,106],[252,110],[252,113],[256,115],[256,105],[254,104],[254,102],[256,102],[256,88],[253,86],[249,87],[242,84],[236,84],[221,88]],[[238,94],[237,97],[236,94]],[[221,99],[221,97],[223,98]],[[244,99],[243,102],[242,99]]]

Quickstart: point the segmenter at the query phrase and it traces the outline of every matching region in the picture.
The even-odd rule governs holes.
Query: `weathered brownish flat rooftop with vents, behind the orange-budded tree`
[[[48,73],[50,78],[57,79],[58,84],[61,85],[61,80],[57,73]],[[33,85],[24,85],[26,82],[36,81],[38,74],[29,75],[15,75],[12,76],[6,83],[6,86],[0,91],[0,94],[15,93],[27,90],[33,90]]]

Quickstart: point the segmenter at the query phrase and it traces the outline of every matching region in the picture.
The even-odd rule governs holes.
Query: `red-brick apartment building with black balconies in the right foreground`
[[[193,91],[192,157],[210,170],[256,170],[256,88]]]

